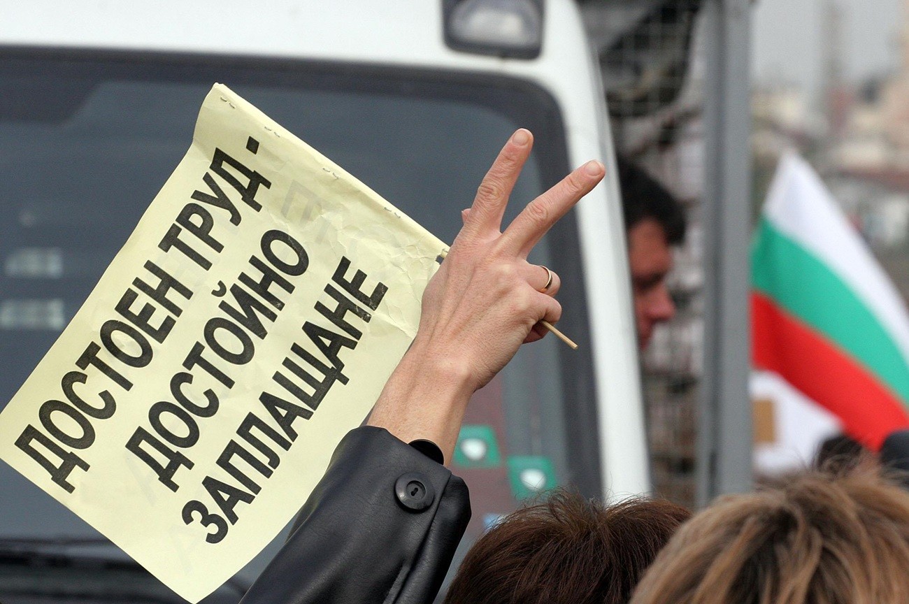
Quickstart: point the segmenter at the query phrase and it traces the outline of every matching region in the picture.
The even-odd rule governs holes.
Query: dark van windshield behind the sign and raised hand
[[[531,129],[536,144],[506,222],[568,170],[554,99],[523,81],[224,57],[0,55],[0,407],[55,342],[180,162],[215,82],[448,242],[517,127]],[[584,344],[574,213],[531,261],[562,275],[560,327]],[[574,404],[593,401],[589,350],[569,352],[545,338],[524,347],[475,396],[453,468],[470,486],[474,507],[462,550],[540,487],[572,482],[591,495],[599,491],[596,437],[584,431],[595,422],[589,408]],[[0,484],[0,600],[10,604],[17,600],[4,587],[4,539],[37,540],[46,548],[99,535],[5,464]],[[276,547],[241,577],[255,578]]]

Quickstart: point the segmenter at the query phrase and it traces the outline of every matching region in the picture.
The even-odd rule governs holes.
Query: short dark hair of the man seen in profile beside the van
[[[672,193],[657,183],[650,174],[621,155],[615,158],[622,192],[622,213],[625,232],[647,218],[653,218],[666,235],[670,245],[684,243],[685,220],[682,204]]]

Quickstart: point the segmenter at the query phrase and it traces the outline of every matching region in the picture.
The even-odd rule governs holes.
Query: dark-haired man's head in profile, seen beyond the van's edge
[[[643,169],[621,156],[616,161],[637,343],[643,350],[654,334],[654,327],[675,314],[666,274],[673,268],[671,247],[684,243],[684,210],[672,193]]]

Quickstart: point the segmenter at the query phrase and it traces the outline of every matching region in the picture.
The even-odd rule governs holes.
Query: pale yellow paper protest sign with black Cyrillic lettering
[[[0,414],[0,458],[198,601],[365,419],[444,248],[215,84],[183,161]]]

